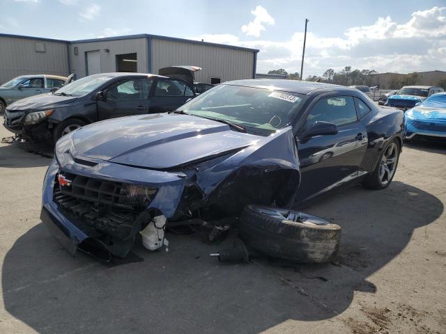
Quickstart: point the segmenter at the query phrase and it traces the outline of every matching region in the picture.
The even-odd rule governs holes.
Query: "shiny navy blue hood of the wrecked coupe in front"
[[[73,155],[166,169],[246,148],[262,136],[197,116],[155,114],[94,123],[72,134]]]

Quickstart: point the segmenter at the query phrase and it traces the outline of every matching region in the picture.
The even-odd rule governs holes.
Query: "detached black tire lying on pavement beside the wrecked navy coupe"
[[[283,217],[272,215],[271,210]],[[247,205],[240,216],[240,239],[260,253],[282,260],[303,263],[334,260],[339,253],[341,227],[311,215],[306,215],[307,222],[291,221],[285,218],[289,212],[277,207]]]

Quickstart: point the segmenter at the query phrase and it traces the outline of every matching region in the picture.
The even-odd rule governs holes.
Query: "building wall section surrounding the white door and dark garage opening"
[[[75,47],[78,54],[75,55]],[[108,49],[109,52],[105,51]],[[101,72],[116,72],[116,55],[137,53],[137,70],[146,73],[147,38],[132,38],[127,40],[107,40],[102,42],[72,42],[70,44],[70,71],[77,74],[77,78],[85,77],[85,52],[100,50]]]

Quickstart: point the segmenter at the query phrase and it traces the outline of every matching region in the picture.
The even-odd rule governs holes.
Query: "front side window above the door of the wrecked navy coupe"
[[[337,127],[357,121],[355,101],[351,96],[337,96],[321,99],[314,104],[307,116],[305,128],[314,122],[333,123]]]

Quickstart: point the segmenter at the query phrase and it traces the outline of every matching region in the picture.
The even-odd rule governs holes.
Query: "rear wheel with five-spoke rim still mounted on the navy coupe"
[[[379,190],[387,188],[397,171],[399,152],[399,142],[397,139],[393,139],[387,143],[380,155],[374,173],[367,177],[362,184],[370,189]]]

